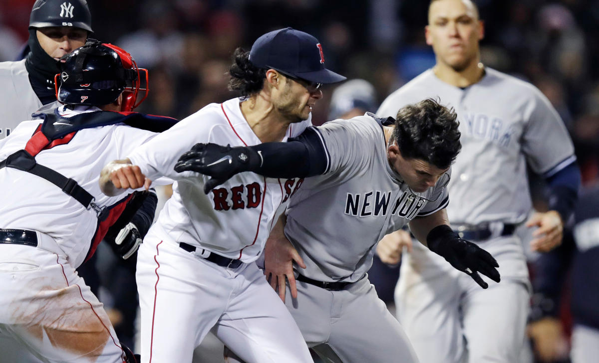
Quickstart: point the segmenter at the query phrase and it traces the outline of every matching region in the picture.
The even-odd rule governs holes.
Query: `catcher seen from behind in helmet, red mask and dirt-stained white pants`
[[[122,49],[90,41],[63,60],[65,105],[0,141],[0,361],[135,362],[75,268],[131,198],[101,193],[102,166],[156,135],[137,127],[173,119],[113,112],[127,83],[137,98],[140,69]]]

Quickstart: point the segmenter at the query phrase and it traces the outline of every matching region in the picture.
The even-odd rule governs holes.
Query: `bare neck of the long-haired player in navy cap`
[[[279,142],[285,138],[289,122],[281,120],[273,103],[260,94],[240,103],[241,114],[262,142]]]

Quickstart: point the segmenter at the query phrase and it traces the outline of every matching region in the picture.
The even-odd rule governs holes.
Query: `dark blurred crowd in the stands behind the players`
[[[0,0],[0,61],[19,57],[33,2]],[[599,1],[476,3],[486,26],[482,62],[543,91],[570,130],[583,184],[597,182]],[[262,33],[286,26],[315,35],[329,69],[374,86],[370,111],[434,65],[434,54],[424,40],[426,0],[88,0],[88,4],[93,37],[119,45],[140,67],[149,69],[149,99],[138,111],[151,114],[184,118],[208,103],[231,98],[226,72],[234,49],[249,50]],[[313,109],[314,124],[328,119],[333,91],[323,89],[323,100]],[[534,187],[533,193],[540,196],[541,187]],[[389,282],[390,293],[383,287],[379,291],[387,300],[395,280]],[[567,331],[567,313],[564,325]]]

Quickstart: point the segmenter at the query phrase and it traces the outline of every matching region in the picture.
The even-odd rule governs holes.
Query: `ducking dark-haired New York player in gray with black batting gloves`
[[[366,274],[377,242],[407,223],[483,288],[479,272],[500,280],[494,258],[447,225],[449,167],[460,150],[455,112],[427,99],[402,108],[397,121],[389,118],[392,127],[386,121],[371,113],[329,121],[286,144],[199,144],[176,166],[213,176],[207,191],[245,171],[313,176],[292,194],[285,230],[283,223],[273,230],[264,264],[308,346],[331,362],[418,362]],[[292,249],[279,261],[289,241],[299,254]],[[295,275],[292,258],[305,266]]]

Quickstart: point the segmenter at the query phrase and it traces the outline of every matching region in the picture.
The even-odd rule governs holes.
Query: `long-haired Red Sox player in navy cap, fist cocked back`
[[[176,180],[138,256],[146,363],[190,362],[211,329],[247,362],[312,362],[293,318],[253,263],[299,179],[244,173],[207,195],[204,176],[173,167],[196,142],[256,145],[298,136],[322,97],[320,84],[345,78],[325,68],[316,38],[292,28],[266,33],[234,57],[229,87],[241,99],[205,106],[104,169],[109,195],[158,176]]]

